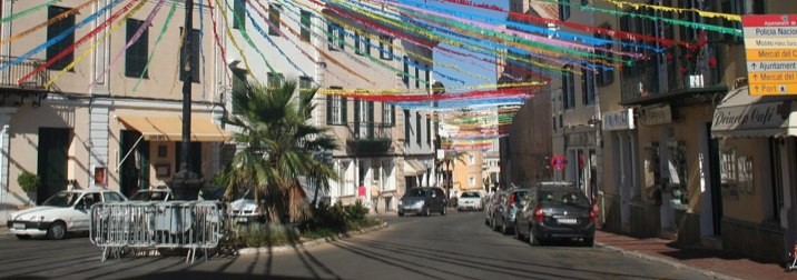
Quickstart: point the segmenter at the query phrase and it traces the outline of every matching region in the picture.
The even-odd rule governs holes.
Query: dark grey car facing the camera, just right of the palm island
[[[430,216],[440,212],[445,216],[447,199],[441,188],[412,188],[398,200],[398,216],[416,213]]]

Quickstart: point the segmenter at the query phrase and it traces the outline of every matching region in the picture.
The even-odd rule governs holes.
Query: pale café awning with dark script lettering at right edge
[[[791,100],[786,96],[750,96],[748,87],[732,90],[714,111],[711,137],[797,136]]]

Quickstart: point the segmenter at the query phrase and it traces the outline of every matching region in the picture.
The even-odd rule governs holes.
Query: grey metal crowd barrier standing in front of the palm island
[[[223,207],[213,201],[125,201],[91,207],[89,237],[102,248],[102,261],[109,253],[124,251],[188,249],[194,261],[196,250],[218,246],[224,228]]]

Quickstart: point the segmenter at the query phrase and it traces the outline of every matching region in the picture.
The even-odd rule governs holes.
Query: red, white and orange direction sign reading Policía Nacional
[[[797,94],[797,14],[741,17],[752,96]]]

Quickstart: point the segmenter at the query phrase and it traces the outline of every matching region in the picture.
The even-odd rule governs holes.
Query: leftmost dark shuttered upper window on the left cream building
[[[68,11],[69,8],[63,7],[56,7],[50,6],[47,10],[47,17],[49,19],[58,17],[58,14],[61,14],[66,11]],[[75,14],[70,14],[69,17],[66,17],[65,19],[55,22],[52,24],[47,26],[47,40],[52,40],[55,37],[61,34],[63,31],[67,31],[68,29],[71,29],[75,27]],[[72,46],[75,43],[75,30],[69,31],[66,37],[63,37],[60,41],[47,47],[47,60],[50,60],[58,56],[62,50],[69,48],[69,46]],[[66,68],[68,64],[72,63],[75,60],[75,52],[69,52],[66,56],[61,57],[59,60],[57,60],[55,63],[50,64],[49,69],[55,70],[61,70]]]

